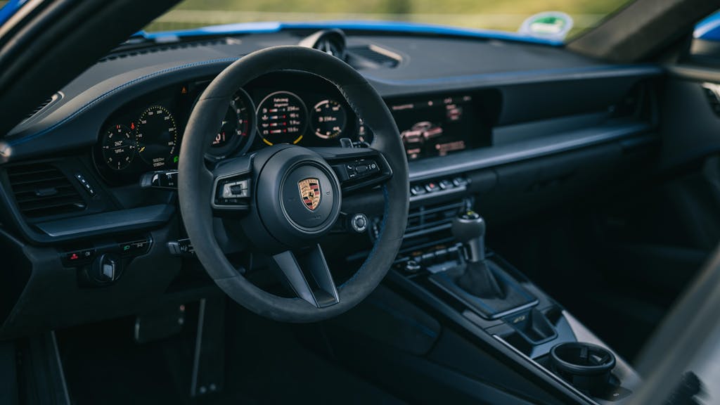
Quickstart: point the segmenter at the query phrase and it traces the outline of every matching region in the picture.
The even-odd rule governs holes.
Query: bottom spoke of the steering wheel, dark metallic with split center
[[[272,259],[287,285],[298,298],[317,308],[325,308],[340,302],[333,275],[330,274],[320,245],[316,244],[307,252],[297,256],[287,250],[275,254]]]

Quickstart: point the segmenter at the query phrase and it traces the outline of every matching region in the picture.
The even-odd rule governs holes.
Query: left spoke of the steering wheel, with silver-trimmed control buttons
[[[250,208],[251,167],[250,156],[225,159],[212,169],[212,210],[228,214]]]

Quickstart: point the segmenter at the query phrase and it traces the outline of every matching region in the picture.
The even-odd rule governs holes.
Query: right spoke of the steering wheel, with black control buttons
[[[330,164],[343,192],[368,189],[387,182],[392,169],[374,148],[310,148]]]

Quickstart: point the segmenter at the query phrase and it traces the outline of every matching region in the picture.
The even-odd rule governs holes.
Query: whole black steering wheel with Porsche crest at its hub
[[[302,71],[336,86],[374,133],[369,148],[303,148],[282,144],[220,161],[205,151],[233,94],[258,76]],[[178,192],[197,258],[240,305],[276,321],[313,322],[353,308],[377,287],[395,260],[408,222],[408,163],[390,110],[354,68],[319,50],[282,46],[258,50],[225,68],[199,97],[180,149]],[[318,241],[341,216],[343,193],[382,188],[379,236],[359,270],[336,285]],[[230,264],[215,238],[213,218],[238,221],[251,252],[294,292],[286,298],[258,288]]]

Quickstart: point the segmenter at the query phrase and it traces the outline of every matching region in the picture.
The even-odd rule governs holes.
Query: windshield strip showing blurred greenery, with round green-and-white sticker
[[[627,2],[627,0],[186,0],[150,23],[145,31],[189,30],[243,22],[392,21],[472,30],[519,31],[521,35],[562,41],[595,27],[604,17]],[[532,16],[534,17],[528,18]],[[570,17],[569,20],[567,17]]]

